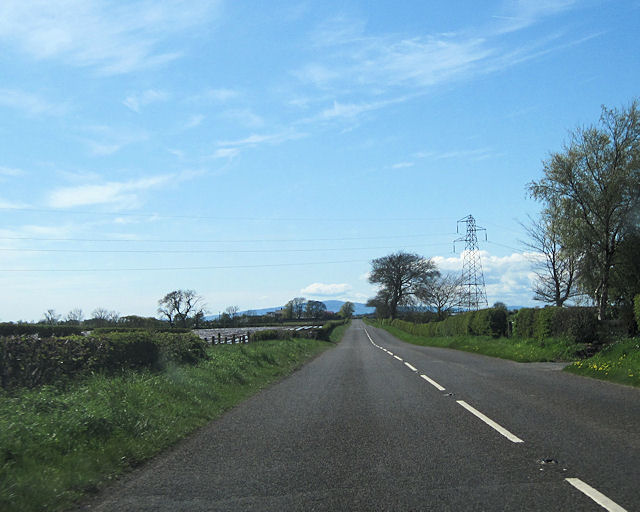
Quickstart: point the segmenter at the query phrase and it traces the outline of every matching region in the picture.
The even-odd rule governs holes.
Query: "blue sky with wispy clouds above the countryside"
[[[534,304],[527,184],[637,97],[639,26],[636,0],[2,0],[0,321],[365,302],[395,251],[460,272],[468,215],[489,303]]]

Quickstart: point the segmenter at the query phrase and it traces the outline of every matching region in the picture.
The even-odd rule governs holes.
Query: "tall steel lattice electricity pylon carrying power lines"
[[[476,226],[476,219],[472,215],[460,219],[456,225],[456,232],[459,233],[458,227],[464,222],[467,225],[465,236],[458,238],[453,242],[453,250],[455,252],[456,242],[464,242],[464,253],[462,259],[462,279],[460,294],[460,302],[458,305],[467,311],[477,311],[482,306],[489,306],[487,302],[487,292],[484,286],[484,274],[482,273],[482,262],[480,261],[480,250],[478,248],[478,231],[485,232],[487,230]]]

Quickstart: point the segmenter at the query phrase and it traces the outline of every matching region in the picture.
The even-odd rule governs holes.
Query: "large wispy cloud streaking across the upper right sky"
[[[568,11],[576,2],[520,0],[508,5],[492,23],[452,33],[369,34],[362,20],[337,17],[311,34],[311,58],[292,75],[314,87],[318,94],[333,94],[333,106],[320,111],[314,120],[353,119],[591,37],[568,43],[565,34],[543,32],[526,42],[516,41],[510,34]],[[305,97],[305,106],[310,103],[309,96]],[[348,100],[354,97],[359,101]]]

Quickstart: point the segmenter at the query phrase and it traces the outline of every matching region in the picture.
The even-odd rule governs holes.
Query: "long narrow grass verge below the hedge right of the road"
[[[533,339],[492,338],[490,336],[416,336],[397,327],[382,325],[381,322],[368,321],[368,323],[385,329],[396,338],[414,345],[453,348],[465,352],[510,359],[520,363],[575,361],[579,359],[580,353],[585,348],[583,344],[562,339],[537,341]]]

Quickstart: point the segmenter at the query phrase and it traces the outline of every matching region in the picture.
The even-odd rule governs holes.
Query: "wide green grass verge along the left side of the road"
[[[223,345],[196,366],[0,391],[0,510],[63,510],[330,346]]]

